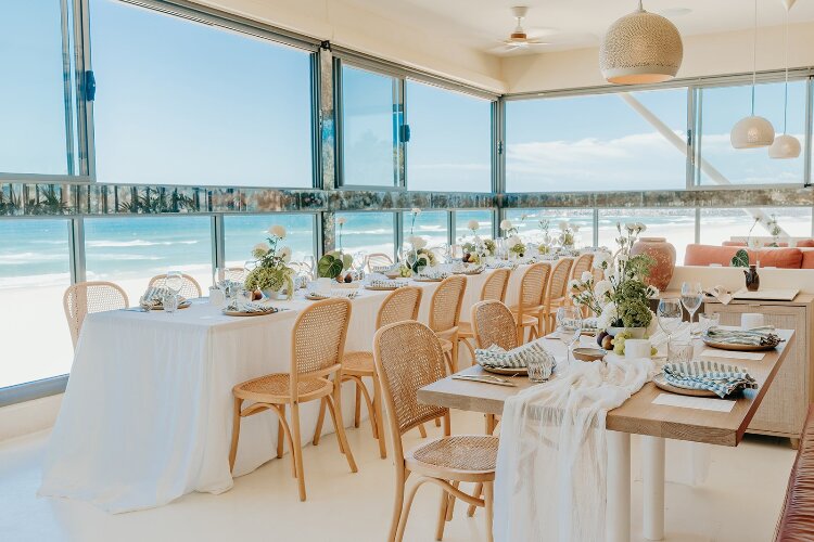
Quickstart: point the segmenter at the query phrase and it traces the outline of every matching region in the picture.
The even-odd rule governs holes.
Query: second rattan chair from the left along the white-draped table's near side
[[[381,307],[379,307],[379,313],[376,317],[376,328],[392,324],[395,322],[404,322],[406,320],[418,319],[418,309],[421,306],[421,295],[423,289],[418,286],[405,286],[403,288],[391,292]],[[368,389],[363,383],[364,377],[370,377],[373,379],[373,397],[370,398]],[[354,426],[359,427],[361,420],[361,398],[365,398],[365,403],[368,408],[368,415],[370,416],[370,427],[373,430],[373,438],[379,440],[379,453],[382,459],[387,456],[386,447],[384,443],[383,424],[382,424],[382,402],[381,402],[381,389],[379,388],[379,379],[376,376],[376,365],[373,364],[373,352],[368,351],[352,351],[345,352],[342,358],[342,380],[353,380],[356,384],[356,410],[354,413]],[[322,418],[325,416],[325,410],[320,409],[320,418],[317,422],[317,427],[322,426]],[[423,429],[423,426],[420,427]],[[422,431],[422,436],[427,437],[425,430]],[[319,444],[319,431],[314,434],[314,446]]]

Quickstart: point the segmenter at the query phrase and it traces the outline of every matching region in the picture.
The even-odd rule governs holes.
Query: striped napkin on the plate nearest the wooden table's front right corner
[[[667,363],[663,371],[664,379],[674,386],[708,389],[722,399],[741,389],[758,389],[758,383],[745,369],[715,361]]]

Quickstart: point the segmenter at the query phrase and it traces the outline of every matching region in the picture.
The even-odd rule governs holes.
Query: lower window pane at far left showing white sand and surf
[[[67,373],[67,220],[0,220],[0,388]]]

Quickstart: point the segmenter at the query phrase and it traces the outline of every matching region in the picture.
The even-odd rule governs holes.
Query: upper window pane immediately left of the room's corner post
[[[491,102],[407,80],[409,190],[492,190]]]

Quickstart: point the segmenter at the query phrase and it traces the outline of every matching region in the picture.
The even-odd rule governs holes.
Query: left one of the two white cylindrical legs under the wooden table
[[[608,542],[631,540],[631,436],[608,431]]]

